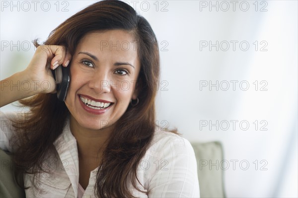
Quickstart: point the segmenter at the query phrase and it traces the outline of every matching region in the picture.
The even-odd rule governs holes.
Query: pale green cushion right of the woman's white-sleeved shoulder
[[[214,142],[191,142],[198,166],[198,178],[201,198],[225,198],[222,144]]]

